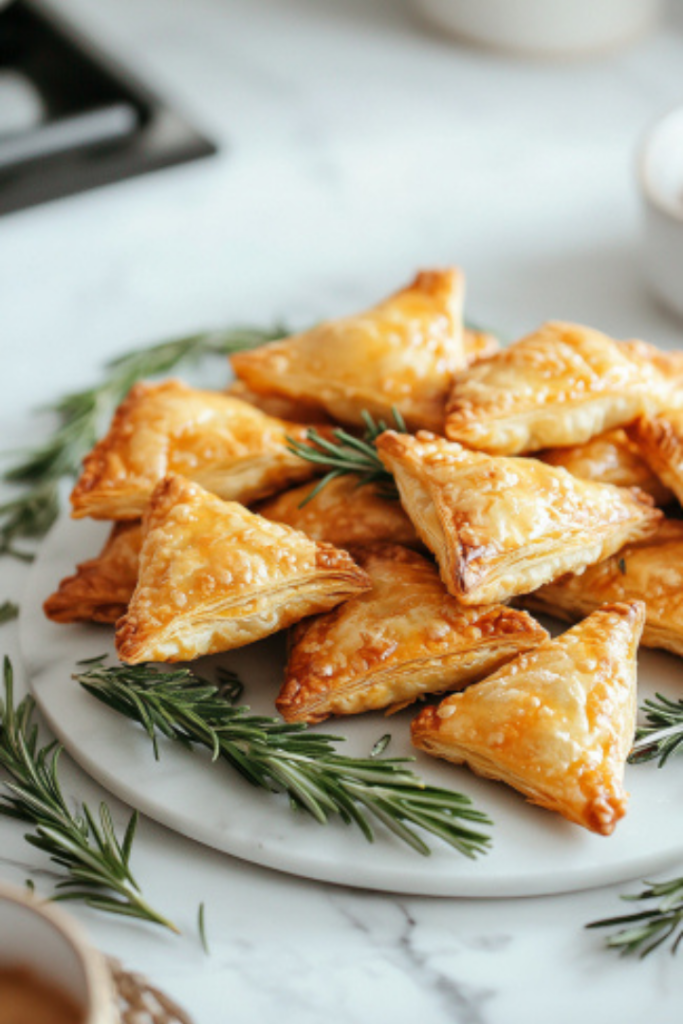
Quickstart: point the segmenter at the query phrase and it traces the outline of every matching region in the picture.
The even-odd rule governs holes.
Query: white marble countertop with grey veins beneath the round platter
[[[463,265],[470,315],[511,337],[552,316],[681,344],[643,283],[634,174],[643,130],[681,99],[680,13],[623,53],[525,63],[439,39],[400,0],[58,6],[221,154],[0,221],[2,447],[38,438],[33,408],[133,345],[341,313],[430,264]],[[0,564],[0,600],[26,572]],[[0,640],[19,667],[15,627]],[[74,796],[101,796],[67,759],[65,772]],[[197,1024],[628,1024],[683,1009],[683,953],[628,962],[584,931],[620,911],[623,886],[394,898],[251,866],[146,820],[134,868],[183,937],[73,912]],[[27,877],[49,891],[45,859],[0,820],[0,878]]]

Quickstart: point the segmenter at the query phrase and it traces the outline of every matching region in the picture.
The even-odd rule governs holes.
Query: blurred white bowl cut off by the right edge
[[[643,267],[656,295],[683,314],[683,106],[649,130],[638,160]]]

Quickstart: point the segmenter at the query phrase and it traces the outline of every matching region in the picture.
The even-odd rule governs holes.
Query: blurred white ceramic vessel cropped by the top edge
[[[630,42],[660,0],[415,0],[430,22],[481,46],[538,56],[577,56]]]

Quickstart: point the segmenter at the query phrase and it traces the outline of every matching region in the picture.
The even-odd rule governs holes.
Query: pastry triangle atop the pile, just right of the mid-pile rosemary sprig
[[[506,601],[580,572],[661,519],[642,492],[580,480],[537,459],[394,431],[380,435],[377,451],[445,586],[465,604]]]

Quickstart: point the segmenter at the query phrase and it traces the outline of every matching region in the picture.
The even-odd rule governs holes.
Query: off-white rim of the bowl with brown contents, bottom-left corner
[[[104,962],[63,910],[0,886],[0,967],[26,967],[86,1011],[86,1024],[115,1024]]]

